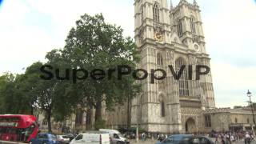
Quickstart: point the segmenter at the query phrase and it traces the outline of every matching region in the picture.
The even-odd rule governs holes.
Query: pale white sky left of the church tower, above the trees
[[[38,60],[43,61],[46,52],[63,47],[69,30],[75,26],[75,21],[85,13],[102,13],[106,22],[122,26],[125,35],[132,36],[134,30],[133,6],[131,5],[130,9],[130,7],[122,6],[123,2],[111,1],[6,1],[0,11],[0,38],[2,41],[0,44],[0,73],[4,71],[22,72],[22,67],[29,66]],[[31,13],[38,14],[38,17],[41,16],[40,14],[44,14],[49,16],[52,21],[48,22],[42,19],[41,23],[45,27],[28,26],[27,23],[34,21],[29,17]],[[130,16],[123,17],[125,13]],[[49,24],[51,27],[46,27]]]

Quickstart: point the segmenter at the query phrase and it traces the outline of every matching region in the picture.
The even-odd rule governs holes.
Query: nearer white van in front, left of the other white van
[[[78,134],[70,144],[110,144],[110,135],[102,131],[87,131]]]

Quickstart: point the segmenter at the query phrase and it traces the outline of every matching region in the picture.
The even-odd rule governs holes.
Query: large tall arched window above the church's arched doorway
[[[182,58],[178,58],[175,61],[175,70],[178,73],[182,66],[186,66]],[[187,77],[186,69],[183,70],[181,78],[178,80],[178,91],[179,96],[189,96],[189,82]]]

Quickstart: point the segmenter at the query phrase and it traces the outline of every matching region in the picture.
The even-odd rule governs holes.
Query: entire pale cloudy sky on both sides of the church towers
[[[168,0],[170,1],[170,0]],[[188,0],[192,2],[193,0]],[[218,107],[246,105],[246,90],[256,97],[256,2],[197,0],[202,10]],[[0,6],[0,74],[22,73],[62,48],[82,14],[102,13],[107,22],[134,36],[133,0],[3,0]],[[177,5],[179,0],[173,0]],[[254,98],[254,102],[256,98]]]

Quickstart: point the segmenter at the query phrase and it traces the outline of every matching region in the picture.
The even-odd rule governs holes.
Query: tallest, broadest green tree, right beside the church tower
[[[132,38],[124,38],[122,32],[120,26],[106,23],[102,14],[84,14],[70,30],[62,55],[74,69],[116,70],[122,65],[134,69],[139,60],[138,51]],[[116,103],[126,101],[128,94],[132,97],[140,90],[140,86],[130,77],[118,80],[115,71],[111,78],[97,77],[98,80],[95,80],[89,77],[78,81],[78,102],[89,110],[94,107],[95,122],[101,122],[102,102],[106,102],[106,107],[111,109]]]

